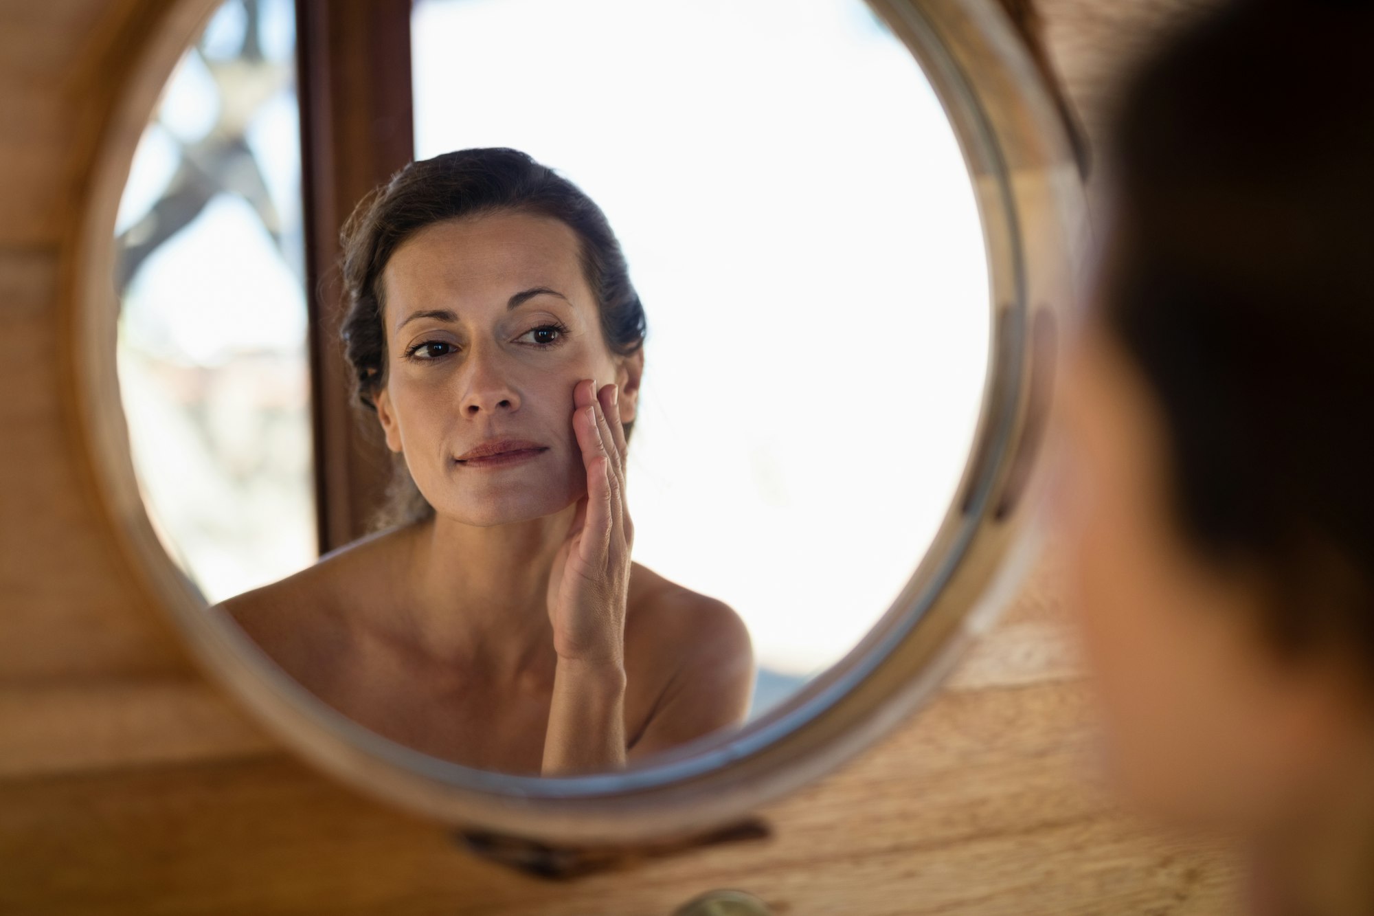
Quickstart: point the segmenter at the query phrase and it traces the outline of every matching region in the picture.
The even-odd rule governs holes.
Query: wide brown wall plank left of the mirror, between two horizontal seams
[[[58,264],[55,250],[0,249],[0,679],[184,673],[71,444]]]

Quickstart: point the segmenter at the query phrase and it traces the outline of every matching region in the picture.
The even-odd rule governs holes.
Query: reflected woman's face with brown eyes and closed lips
[[[561,220],[497,212],[427,226],[383,270],[376,413],[438,514],[497,525],[581,498],[580,380],[617,382],[621,421],[635,418],[642,356],[606,347],[578,250]]]

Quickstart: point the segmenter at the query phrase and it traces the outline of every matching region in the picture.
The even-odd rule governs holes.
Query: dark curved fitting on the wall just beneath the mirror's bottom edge
[[[771,835],[772,831],[764,821],[750,818],[706,833],[631,846],[551,846],[486,831],[458,831],[455,839],[466,850],[508,868],[551,880],[569,880],[583,875],[635,868],[640,862],[680,855],[706,846],[764,840]]]

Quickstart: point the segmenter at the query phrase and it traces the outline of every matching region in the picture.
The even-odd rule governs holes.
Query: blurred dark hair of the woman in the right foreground
[[[1169,435],[1176,516],[1270,582],[1289,651],[1374,671],[1374,8],[1227,3],[1143,63],[1106,150],[1106,325]]]

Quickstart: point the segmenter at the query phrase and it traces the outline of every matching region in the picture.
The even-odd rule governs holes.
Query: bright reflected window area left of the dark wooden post
[[[176,69],[120,206],[135,470],[207,601],[317,558],[295,12],[227,0]]]

